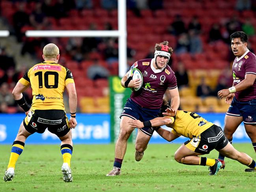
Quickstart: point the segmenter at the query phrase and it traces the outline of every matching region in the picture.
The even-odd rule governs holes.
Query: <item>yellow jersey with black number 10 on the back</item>
[[[63,92],[65,86],[74,83],[69,69],[52,61],[38,63],[30,68],[19,80],[32,88],[32,110],[65,110]]]

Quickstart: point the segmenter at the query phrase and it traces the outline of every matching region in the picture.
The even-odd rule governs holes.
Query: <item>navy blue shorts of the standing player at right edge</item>
[[[241,102],[237,101],[234,97],[226,115],[236,117],[243,116],[243,123],[256,125],[256,99]]]

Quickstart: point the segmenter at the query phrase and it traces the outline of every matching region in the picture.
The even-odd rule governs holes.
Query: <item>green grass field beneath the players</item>
[[[234,144],[256,159],[252,144]],[[73,182],[65,183],[60,168],[59,145],[26,145],[19,158],[13,181],[2,179],[11,145],[1,145],[1,192],[62,191],[256,191],[256,173],[244,172],[246,166],[226,158],[225,170],[208,175],[207,166],[188,166],[174,160],[178,144],[149,144],[140,162],[134,159],[129,144],[120,176],[106,177],[112,169],[114,144],[75,145],[71,160]],[[209,158],[217,158],[213,151]]]

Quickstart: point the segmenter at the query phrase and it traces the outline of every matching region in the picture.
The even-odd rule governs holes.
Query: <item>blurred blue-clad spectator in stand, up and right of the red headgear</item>
[[[189,52],[191,54],[201,53],[203,50],[202,40],[195,30],[189,30]]]

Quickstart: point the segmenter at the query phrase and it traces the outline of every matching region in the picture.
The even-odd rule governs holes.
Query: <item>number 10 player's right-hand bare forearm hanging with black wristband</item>
[[[69,119],[69,124],[71,129],[77,126],[77,120],[75,118],[75,113],[77,112],[77,91],[75,88],[75,83],[69,83],[66,85],[67,93],[69,94],[69,109],[70,113],[73,114]]]

